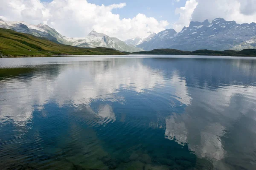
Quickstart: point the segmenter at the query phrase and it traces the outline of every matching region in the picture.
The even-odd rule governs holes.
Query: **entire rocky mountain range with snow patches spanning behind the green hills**
[[[0,28],[45,37],[64,45],[115,48],[126,52],[150,51],[159,48],[183,51],[256,49],[256,23],[237,24],[235,21],[226,21],[223,18],[216,18],[211,23],[208,20],[204,22],[192,21],[188,27],[184,27],[179,33],[174,29],[166,29],[158,34],[148,32],[146,36],[134,37],[125,41],[94,30],[86,37],[64,37],[55,29],[44,24],[34,26],[24,22],[0,20]]]

